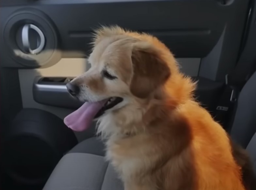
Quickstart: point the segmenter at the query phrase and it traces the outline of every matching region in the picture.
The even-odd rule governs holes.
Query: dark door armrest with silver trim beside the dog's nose
[[[36,77],[33,83],[33,98],[37,103],[60,108],[77,109],[83,103],[67,91],[69,77]]]

